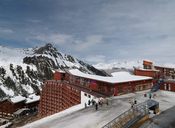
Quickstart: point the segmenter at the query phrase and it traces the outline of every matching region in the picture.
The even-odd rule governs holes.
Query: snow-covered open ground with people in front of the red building
[[[77,105],[63,112],[23,126],[23,128],[101,128],[128,110],[131,107],[129,103],[130,100],[136,99],[138,103],[147,100],[148,97],[144,97],[143,95],[148,91],[149,90],[112,97],[109,105],[99,106],[97,111],[94,107],[84,109],[83,105]],[[158,91],[154,99],[159,102],[160,112],[175,105],[174,92]]]

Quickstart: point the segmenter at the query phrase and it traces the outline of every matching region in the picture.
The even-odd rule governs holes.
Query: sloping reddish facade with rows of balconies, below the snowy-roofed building
[[[56,80],[44,83],[39,104],[39,115],[45,117],[80,104],[80,91],[70,84]]]

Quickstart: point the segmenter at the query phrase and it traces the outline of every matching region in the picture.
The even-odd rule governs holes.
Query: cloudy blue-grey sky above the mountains
[[[174,0],[0,0],[0,44],[53,42],[92,64],[175,63]]]

